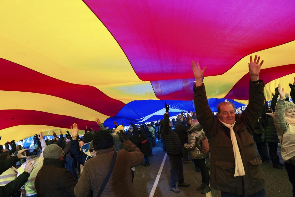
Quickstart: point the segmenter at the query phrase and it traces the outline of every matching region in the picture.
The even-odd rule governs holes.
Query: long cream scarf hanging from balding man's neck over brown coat
[[[220,121],[220,119],[219,119]],[[237,138],[234,132],[234,125],[235,123],[233,123],[232,125],[224,123],[222,121],[220,121],[224,126],[230,128],[230,139],[232,140],[232,148],[234,149],[234,155],[235,155],[235,175],[236,176],[244,176],[245,175],[245,170],[244,170],[244,165],[242,162],[242,157],[240,154],[240,150],[239,150],[239,146],[237,143]]]

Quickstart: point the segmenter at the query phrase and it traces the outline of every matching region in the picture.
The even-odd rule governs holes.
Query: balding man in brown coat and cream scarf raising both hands
[[[264,197],[264,179],[260,169],[261,159],[257,157],[252,133],[263,107],[264,83],[259,80],[261,61],[250,56],[249,105],[242,115],[236,115],[230,102],[219,104],[217,120],[209,108],[205,86],[202,82],[204,71],[192,61],[196,79],[194,103],[196,117],[210,138],[211,187],[221,191],[221,196]]]

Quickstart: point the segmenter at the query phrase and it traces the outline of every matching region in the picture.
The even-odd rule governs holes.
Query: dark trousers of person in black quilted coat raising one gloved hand
[[[183,182],[182,155],[168,155],[170,162],[170,188],[176,188],[177,181]]]

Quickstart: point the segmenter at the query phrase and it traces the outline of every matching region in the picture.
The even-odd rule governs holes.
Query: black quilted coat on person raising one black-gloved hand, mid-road
[[[164,124],[161,136],[165,141],[166,152],[168,155],[182,155],[183,146],[175,131],[169,126],[169,114],[164,114]]]

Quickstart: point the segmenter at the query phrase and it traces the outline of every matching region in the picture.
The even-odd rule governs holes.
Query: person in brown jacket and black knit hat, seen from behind
[[[143,154],[130,140],[124,131],[117,133],[125,150],[117,152],[114,170],[101,196],[133,197],[137,196],[132,184],[131,168],[142,164]],[[97,131],[93,138],[96,156],[89,159],[74,189],[76,197],[97,196],[106,175],[109,172],[114,155],[112,135],[106,131]]]

